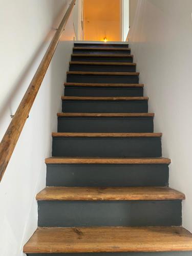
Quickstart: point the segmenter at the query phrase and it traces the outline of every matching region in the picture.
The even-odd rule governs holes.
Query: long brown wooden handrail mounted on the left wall
[[[9,124],[9,127],[0,143],[0,181],[3,178],[5,173],[6,167],[9,163],[9,160],[12,156],[13,150],[17,143],[17,140],[20,136],[20,133],[23,130],[24,124],[28,118],[29,112],[33,105],[33,102],[36,98],[38,90],[41,86],[42,80],[47,72],[55,49],[58,45],[59,39],[62,35],[63,30],[68,22],[69,16],[72,12],[72,9],[75,5],[75,0],[72,0],[65,16],[61,20],[61,23],[51,40],[51,43],[45,53],[44,57],[42,58],[40,65],[22,99],[20,102],[15,115],[13,116],[12,121]]]

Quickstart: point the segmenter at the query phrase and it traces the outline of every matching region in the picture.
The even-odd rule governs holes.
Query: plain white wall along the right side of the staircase
[[[192,1],[138,0],[130,44],[163,132],[163,156],[172,159],[170,186],[186,195],[183,225],[192,231]]]

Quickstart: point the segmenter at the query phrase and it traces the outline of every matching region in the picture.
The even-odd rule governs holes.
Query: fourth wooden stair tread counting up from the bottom
[[[52,137],[162,137],[162,133],[52,133]]]

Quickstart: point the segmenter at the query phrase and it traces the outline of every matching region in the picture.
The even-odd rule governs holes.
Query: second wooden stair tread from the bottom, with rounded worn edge
[[[183,200],[184,194],[169,187],[46,187],[36,196],[44,201],[150,201]]]

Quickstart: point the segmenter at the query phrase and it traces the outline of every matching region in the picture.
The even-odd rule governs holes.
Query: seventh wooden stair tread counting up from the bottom
[[[64,86],[87,86],[87,87],[144,87],[143,83],[81,83],[65,82]]]

